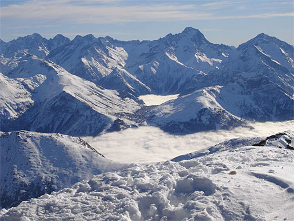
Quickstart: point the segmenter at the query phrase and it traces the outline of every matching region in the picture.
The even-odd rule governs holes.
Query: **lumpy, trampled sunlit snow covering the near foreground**
[[[194,159],[95,175],[3,209],[0,220],[293,220],[293,160],[290,149],[231,143]]]

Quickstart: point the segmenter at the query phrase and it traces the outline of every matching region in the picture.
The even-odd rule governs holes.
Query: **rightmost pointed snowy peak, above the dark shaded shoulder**
[[[208,75],[199,76],[198,84],[187,84],[183,92],[189,93],[211,85],[226,85],[240,77],[248,80],[251,77],[261,80],[266,77],[286,93],[293,95],[293,53],[293,48],[286,42],[259,34],[233,50],[218,69],[212,70]]]

